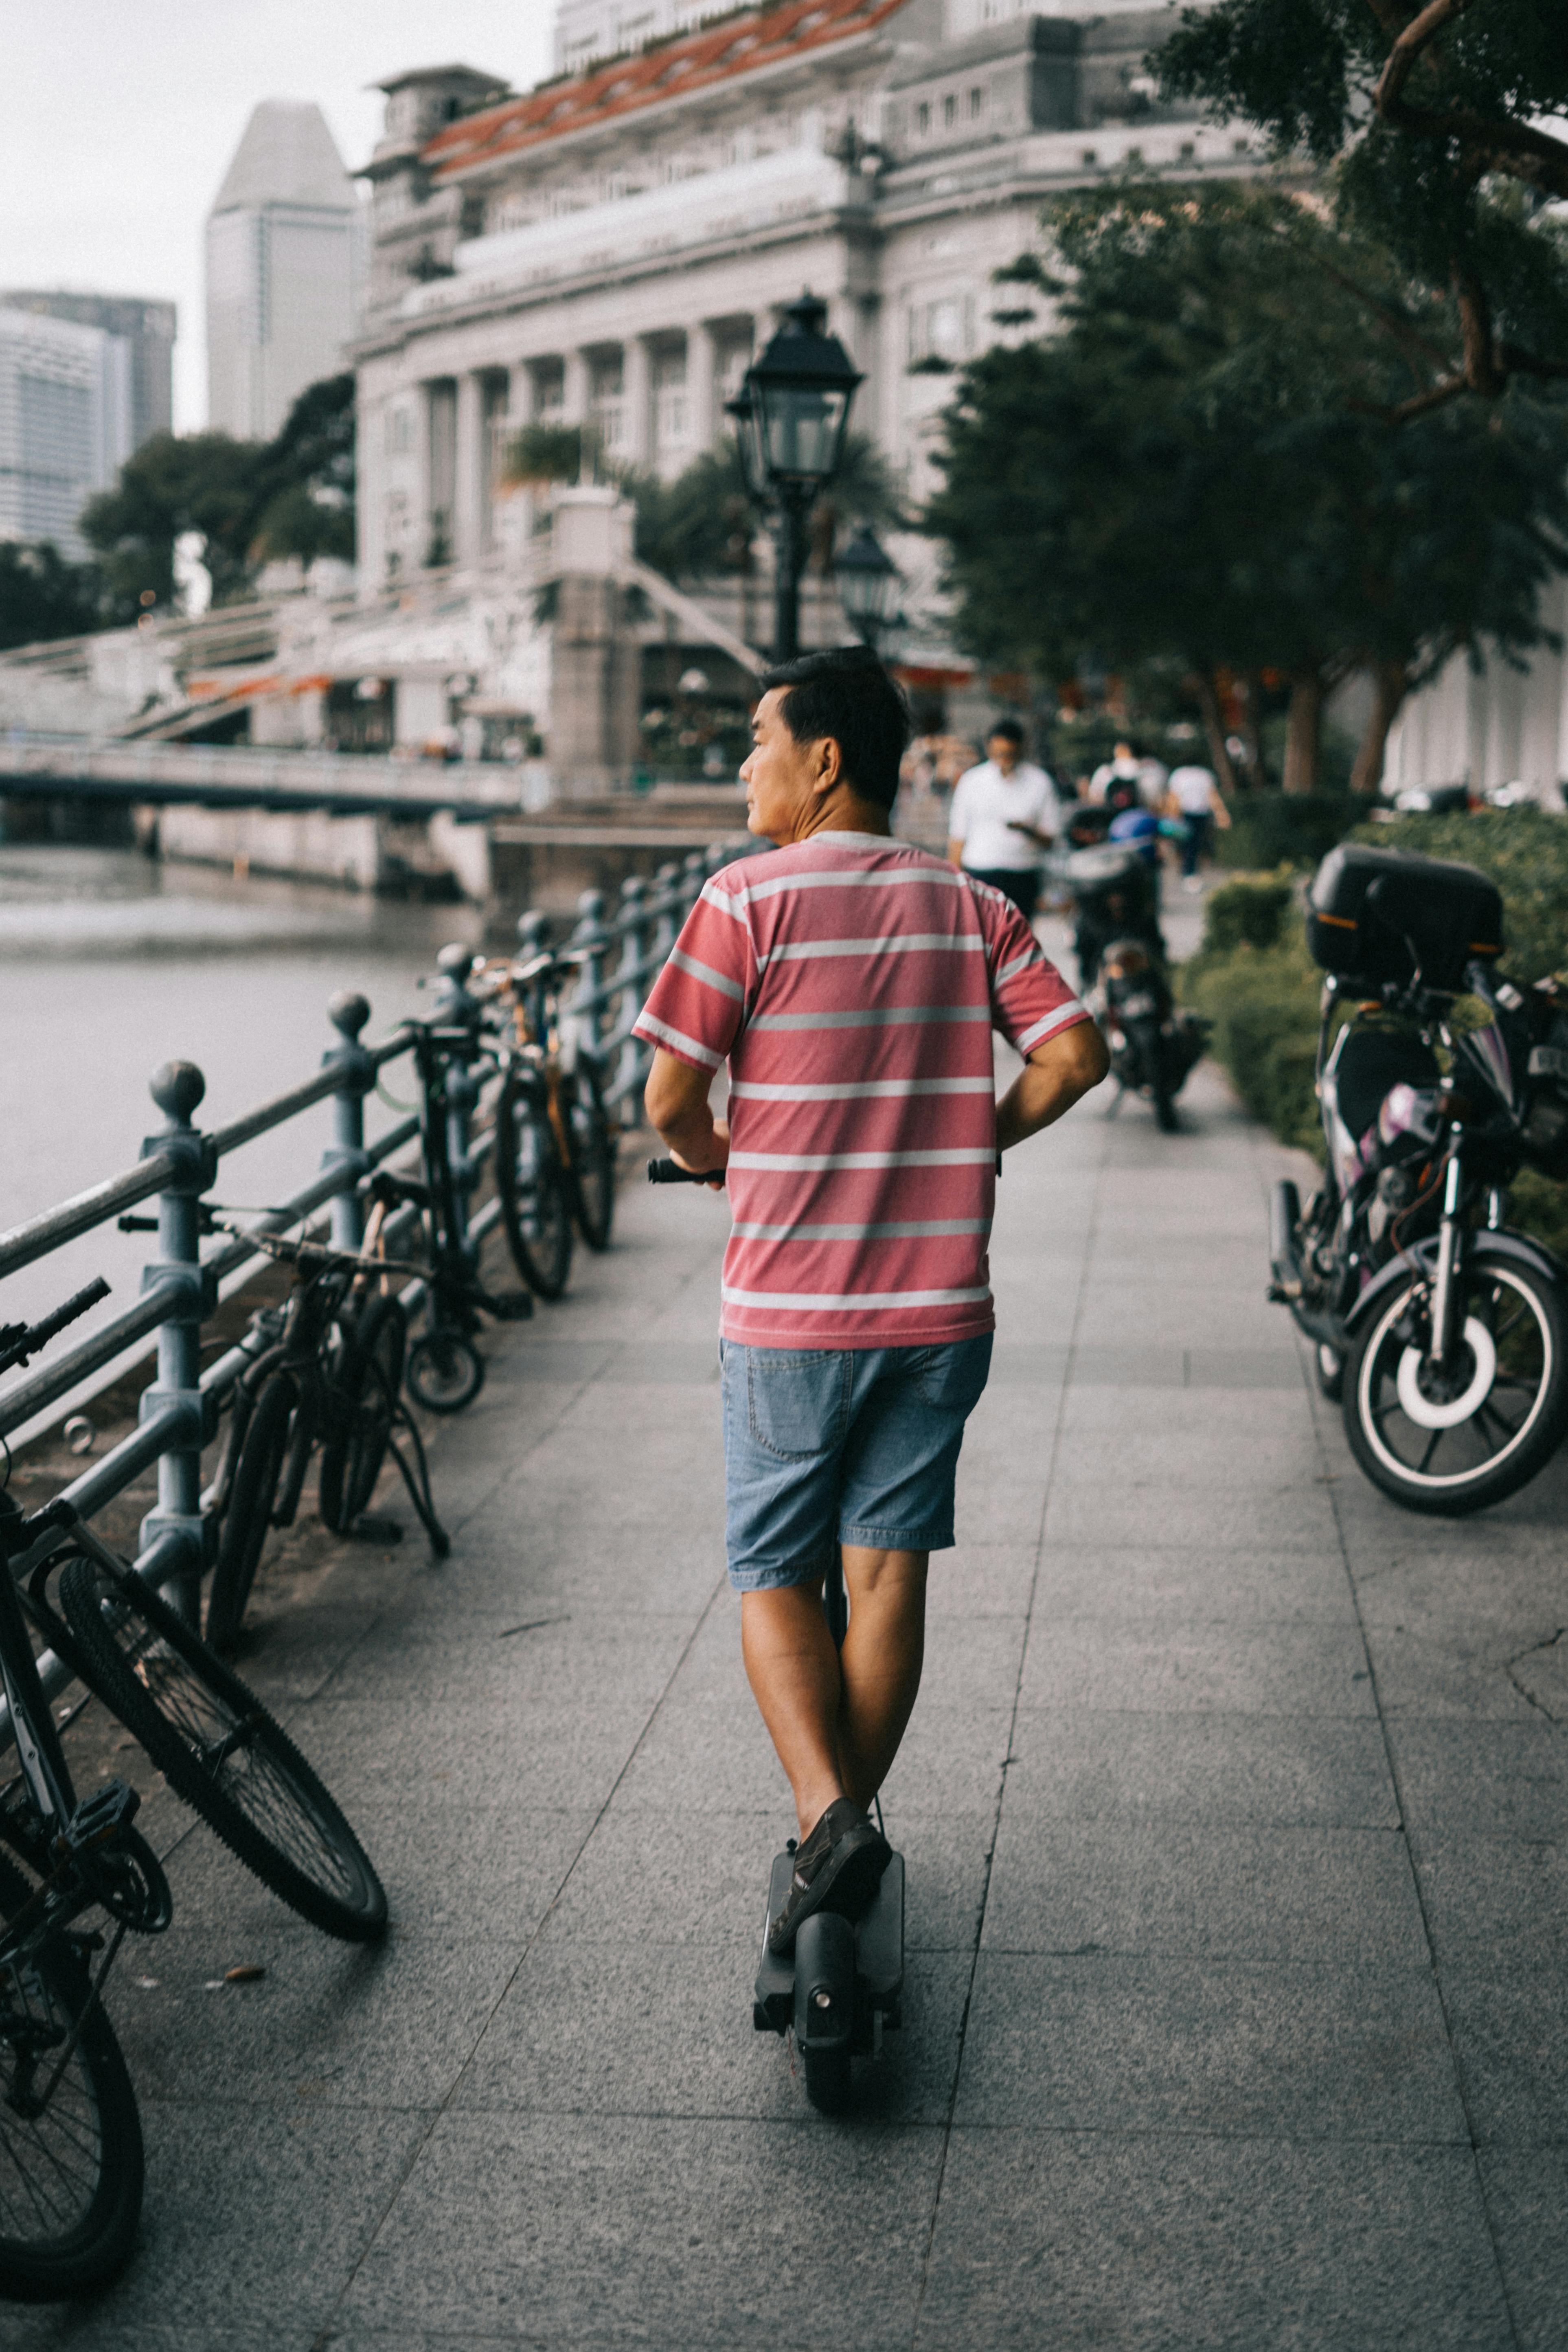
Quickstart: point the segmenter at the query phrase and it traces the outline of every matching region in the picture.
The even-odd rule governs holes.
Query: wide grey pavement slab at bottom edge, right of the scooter
[[[954,2131],[914,2340],[1514,2345],[1469,2150],[1027,2131]]]

